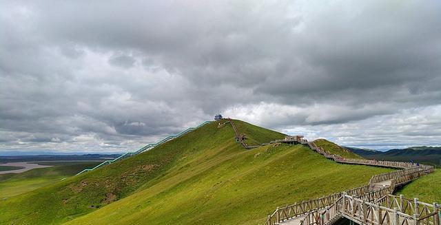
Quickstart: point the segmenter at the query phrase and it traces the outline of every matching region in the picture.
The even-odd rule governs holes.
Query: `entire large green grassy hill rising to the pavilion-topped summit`
[[[284,136],[235,124],[249,144]],[[276,206],[360,186],[386,171],[337,164],[300,145],[245,150],[231,125],[213,122],[138,156],[0,201],[0,224],[258,224]]]

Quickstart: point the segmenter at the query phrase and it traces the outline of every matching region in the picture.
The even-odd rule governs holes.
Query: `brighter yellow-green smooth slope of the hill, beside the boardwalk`
[[[171,171],[150,188],[68,224],[260,224],[276,206],[360,186],[390,171],[337,164],[300,145],[229,149],[210,149],[183,165],[185,171]]]

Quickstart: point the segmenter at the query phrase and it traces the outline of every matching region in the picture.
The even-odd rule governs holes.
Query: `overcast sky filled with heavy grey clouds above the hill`
[[[441,1],[2,1],[0,154],[122,152],[214,114],[441,144]]]

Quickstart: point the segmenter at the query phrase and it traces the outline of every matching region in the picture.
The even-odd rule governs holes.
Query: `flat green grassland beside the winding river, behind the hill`
[[[85,167],[92,167],[95,164],[97,164],[97,162],[70,162],[68,165],[32,169],[23,173],[1,174],[0,199],[54,184],[66,176],[74,175]]]

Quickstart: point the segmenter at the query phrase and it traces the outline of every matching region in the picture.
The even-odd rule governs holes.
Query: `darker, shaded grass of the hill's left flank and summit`
[[[236,121],[236,126],[248,134],[249,140],[268,142],[283,137],[282,133],[245,122]],[[180,164],[192,160],[206,149],[228,143],[239,149],[240,146],[232,142],[233,137],[231,125],[217,129],[217,124],[212,123],[138,156],[11,197],[0,202],[0,208],[6,208],[0,214],[0,224],[60,224],[85,215],[138,189],[151,186],[157,178],[166,176],[167,171],[181,167]]]

